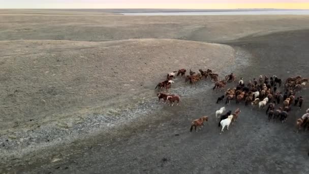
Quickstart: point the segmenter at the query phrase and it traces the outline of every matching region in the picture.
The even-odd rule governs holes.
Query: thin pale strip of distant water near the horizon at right
[[[309,10],[274,10],[274,11],[227,11],[227,12],[145,12],[121,13],[134,16],[178,16],[178,15],[309,15]]]

